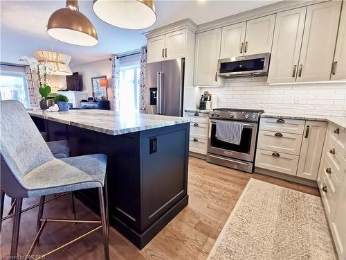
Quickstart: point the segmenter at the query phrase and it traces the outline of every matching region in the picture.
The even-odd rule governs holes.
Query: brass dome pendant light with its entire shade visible
[[[48,20],[47,33],[69,44],[81,46],[98,44],[98,34],[91,21],[78,10],[77,0],[66,1],[66,8],[53,12]]]

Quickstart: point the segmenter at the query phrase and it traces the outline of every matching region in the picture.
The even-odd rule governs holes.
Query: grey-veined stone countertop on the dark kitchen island
[[[30,116],[78,126],[108,135],[122,135],[167,125],[187,123],[190,119],[158,114],[120,113],[110,110],[70,110],[68,112],[28,111]]]

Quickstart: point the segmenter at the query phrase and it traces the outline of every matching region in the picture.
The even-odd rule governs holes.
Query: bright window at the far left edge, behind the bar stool
[[[0,100],[7,99],[14,99],[21,102],[24,107],[30,107],[28,84],[24,73],[1,71]]]

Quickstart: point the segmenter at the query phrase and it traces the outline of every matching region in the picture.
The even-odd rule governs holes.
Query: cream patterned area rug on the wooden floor
[[[338,257],[321,198],[251,178],[208,259]]]

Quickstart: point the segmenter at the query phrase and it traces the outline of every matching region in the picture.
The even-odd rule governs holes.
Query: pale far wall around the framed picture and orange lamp
[[[83,79],[83,91],[88,92],[88,96],[93,96],[93,86],[91,85],[91,78],[107,76],[108,80],[111,80],[111,61],[109,58],[97,60],[95,62],[89,62],[80,64],[78,66],[70,67],[72,72],[78,72],[82,75]],[[113,92],[111,86],[107,88],[108,100],[111,101],[111,107],[113,107]]]

